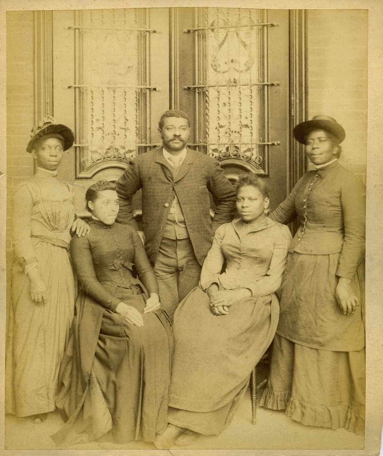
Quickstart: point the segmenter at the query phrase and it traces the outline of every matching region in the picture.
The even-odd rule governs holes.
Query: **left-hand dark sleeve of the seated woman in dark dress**
[[[70,243],[71,259],[82,290],[103,307],[115,312],[121,302],[97,280],[88,236],[74,236]]]

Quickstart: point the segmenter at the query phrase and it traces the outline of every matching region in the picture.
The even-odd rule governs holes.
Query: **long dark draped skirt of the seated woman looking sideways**
[[[138,288],[117,287],[114,295],[142,314],[146,296]],[[66,421],[52,436],[57,445],[154,441],[166,427],[172,328],[161,309],[143,322],[130,325],[79,294],[56,399]]]

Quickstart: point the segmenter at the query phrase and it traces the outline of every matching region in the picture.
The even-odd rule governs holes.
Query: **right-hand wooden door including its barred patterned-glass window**
[[[192,145],[235,181],[252,171],[271,207],[288,191],[289,11],[182,8],[176,100],[195,125]],[[191,62],[191,65],[190,65]]]

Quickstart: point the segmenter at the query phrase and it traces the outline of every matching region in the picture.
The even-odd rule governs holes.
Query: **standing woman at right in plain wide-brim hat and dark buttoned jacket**
[[[339,165],[345,132],[320,115],[294,129],[316,170],[270,218],[300,227],[280,289],[263,407],[362,435],[365,404],[365,187]]]

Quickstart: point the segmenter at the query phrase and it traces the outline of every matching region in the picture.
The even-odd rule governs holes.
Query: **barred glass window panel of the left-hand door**
[[[77,179],[124,169],[148,147],[148,10],[78,10],[74,14],[75,162]]]

